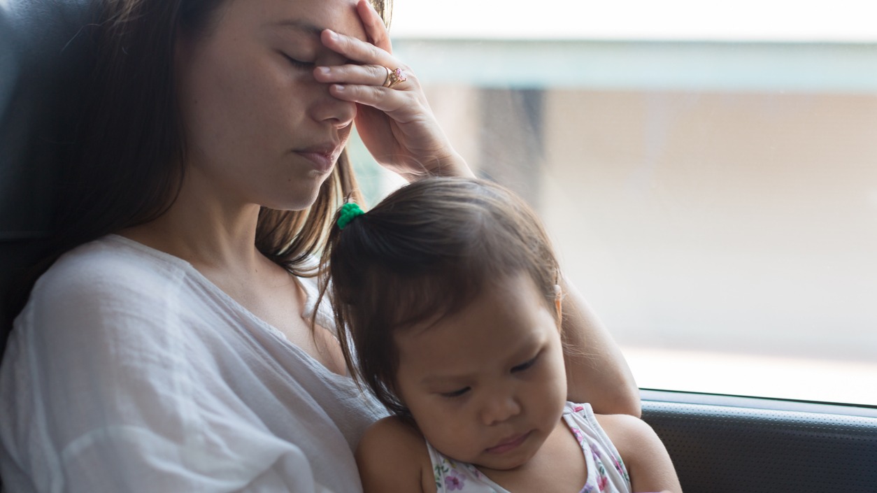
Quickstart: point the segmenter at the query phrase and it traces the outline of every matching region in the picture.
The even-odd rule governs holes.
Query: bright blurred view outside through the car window
[[[640,387],[877,405],[877,5],[396,0]],[[370,204],[401,182],[354,143]]]

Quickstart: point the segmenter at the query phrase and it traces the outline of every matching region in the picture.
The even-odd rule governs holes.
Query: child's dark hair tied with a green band
[[[395,331],[452,315],[485,285],[518,274],[556,313],[559,267],[548,235],[523,199],[492,182],[410,183],[343,231],[334,225],[323,265],[320,291],[330,291],[347,368],[400,416],[408,411],[396,393]]]

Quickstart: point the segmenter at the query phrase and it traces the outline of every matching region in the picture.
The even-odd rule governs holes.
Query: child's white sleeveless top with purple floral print
[[[594,417],[590,404],[567,403],[563,420],[581,446],[588,479],[580,493],[631,493],[631,478],[609,437]],[[439,453],[429,442],[438,493],[510,493],[472,464],[454,461]]]

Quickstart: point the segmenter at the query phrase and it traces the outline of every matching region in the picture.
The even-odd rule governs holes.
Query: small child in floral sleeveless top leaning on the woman
[[[567,402],[558,262],[507,189],[345,204],[324,255],[348,368],[392,413],[356,453],[367,493],[681,491],[648,425]]]

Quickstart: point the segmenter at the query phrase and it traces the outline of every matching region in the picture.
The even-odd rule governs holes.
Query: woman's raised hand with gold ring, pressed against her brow
[[[367,0],[360,0],[356,10],[369,42],[324,30],[324,46],[355,64],[317,67],[314,77],[332,83],[332,96],[357,104],[356,129],[381,166],[409,181],[429,175],[472,176],[439,127],[417,77],[392,55],[381,17]],[[389,71],[396,68],[405,80],[386,87]]]

